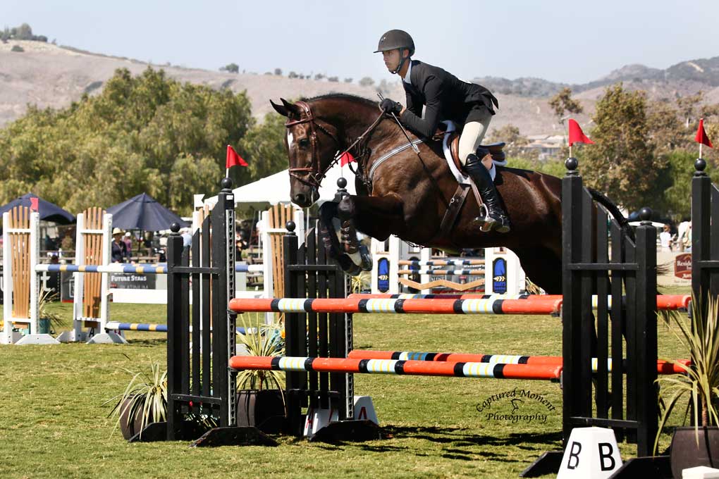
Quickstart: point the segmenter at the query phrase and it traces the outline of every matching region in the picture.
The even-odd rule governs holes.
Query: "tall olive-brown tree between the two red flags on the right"
[[[618,83],[597,101],[592,117],[593,145],[577,154],[587,185],[607,194],[629,210],[661,208],[661,192],[669,186],[661,172],[666,160],[654,156],[646,141],[646,96]]]

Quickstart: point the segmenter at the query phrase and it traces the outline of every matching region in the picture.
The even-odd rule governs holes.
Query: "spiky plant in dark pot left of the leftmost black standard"
[[[142,434],[147,424],[165,421],[168,411],[168,372],[160,371],[160,364],[155,362],[150,364],[149,374],[134,373],[127,369],[124,371],[133,375],[132,380],[124,393],[108,399],[104,404],[115,402],[109,416],[117,416],[115,428],[119,427],[122,437],[129,440],[135,434]]]

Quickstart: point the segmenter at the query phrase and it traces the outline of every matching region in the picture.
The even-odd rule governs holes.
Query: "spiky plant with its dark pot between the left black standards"
[[[247,313],[245,313],[247,315]],[[283,327],[280,322],[270,325],[255,314],[255,321],[242,316],[244,333],[238,333],[237,344],[244,348],[239,354],[282,356],[285,353]],[[277,433],[285,422],[283,371],[245,370],[237,374],[237,425],[254,426],[263,432]]]

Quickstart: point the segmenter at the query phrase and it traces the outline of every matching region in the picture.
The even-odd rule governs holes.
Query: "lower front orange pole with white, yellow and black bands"
[[[558,381],[562,366],[472,362],[403,361],[393,359],[303,358],[233,356],[229,367],[237,370],[316,371],[321,373],[398,374],[459,378],[544,379]]]

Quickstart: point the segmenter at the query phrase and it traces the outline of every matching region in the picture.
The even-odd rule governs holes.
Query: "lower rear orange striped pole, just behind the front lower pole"
[[[528,356],[508,354],[467,354],[467,353],[423,353],[418,351],[372,351],[352,350],[347,354],[352,359],[394,359],[403,361],[434,361],[434,362],[475,362],[490,364],[530,364],[562,366],[562,356]],[[689,366],[691,361],[679,359],[677,362]],[[608,371],[612,371],[612,359],[607,360]],[[592,372],[597,372],[597,358],[592,358]],[[669,361],[656,361],[656,372],[659,374],[685,373],[682,366]]]

